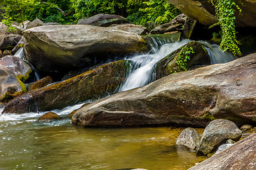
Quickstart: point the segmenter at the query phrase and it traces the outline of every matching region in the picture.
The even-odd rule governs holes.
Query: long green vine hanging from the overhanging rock
[[[242,55],[238,47],[239,42],[235,36],[235,8],[240,13],[241,8],[235,4],[235,0],[210,0],[210,2],[215,6],[216,16],[219,20],[213,26],[220,25],[222,31],[220,50],[223,50],[223,52],[229,50],[234,55]]]

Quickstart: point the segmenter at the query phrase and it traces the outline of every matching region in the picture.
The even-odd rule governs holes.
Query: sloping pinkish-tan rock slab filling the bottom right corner
[[[188,170],[254,170],[255,155],[256,134],[253,134]]]

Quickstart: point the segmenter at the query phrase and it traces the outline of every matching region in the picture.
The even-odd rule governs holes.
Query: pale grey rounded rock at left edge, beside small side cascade
[[[26,73],[31,70],[31,67],[26,62],[12,55],[6,55],[0,58],[0,65],[9,69],[14,76],[18,76],[18,74],[26,76]]]

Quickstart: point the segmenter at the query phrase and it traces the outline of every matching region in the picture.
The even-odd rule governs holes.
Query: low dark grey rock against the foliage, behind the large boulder
[[[122,16],[110,15],[105,13],[100,13],[90,18],[82,19],[78,25],[91,25],[91,26],[101,26],[108,27],[112,24],[128,23],[127,19]]]

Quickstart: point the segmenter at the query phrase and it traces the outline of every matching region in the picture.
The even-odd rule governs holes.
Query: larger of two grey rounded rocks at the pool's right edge
[[[209,154],[228,139],[238,141],[242,131],[230,120],[217,119],[203,131],[197,154]]]

